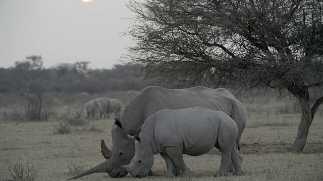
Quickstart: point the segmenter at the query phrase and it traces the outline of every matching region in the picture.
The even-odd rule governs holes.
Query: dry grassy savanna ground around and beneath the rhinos
[[[126,96],[125,96],[126,95]],[[76,95],[52,95],[56,112],[85,102],[93,97]],[[124,105],[135,96],[134,92],[106,95],[117,97]],[[6,98],[3,97],[3,103]],[[277,101],[273,96],[249,97],[244,101],[248,110],[247,127],[241,138],[242,168],[245,176],[213,177],[220,166],[220,152],[216,149],[197,157],[185,155],[187,166],[193,177],[177,177],[171,180],[323,180],[323,109],[317,111],[309,130],[304,153],[288,152],[293,143],[300,121],[297,104]],[[2,106],[0,123],[0,180],[12,179],[8,174],[7,162],[21,160],[35,165],[42,173],[36,180],[66,180],[73,176],[73,169],[88,169],[104,161],[100,152],[100,140],[104,139],[111,148],[111,126],[109,120],[91,122],[87,127],[74,129],[69,134],[57,134],[55,118],[46,122],[6,120],[8,112],[17,110],[17,104]],[[19,109],[18,109],[19,110]],[[78,169],[76,169],[78,170]],[[155,155],[152,171],[156,176],[141,180],[170,180],[159,175],[166,170],[160,155]],[[111,178],[107,173],[94,173],[79,180],[138,180],[129,174],[123,178]]]

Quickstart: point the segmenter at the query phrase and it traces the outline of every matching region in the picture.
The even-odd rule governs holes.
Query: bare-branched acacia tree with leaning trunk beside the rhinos
[[[130,0],[135,44],[123,58],[182,85],[274,88],[301,105],[291,150],[301,152],[323,97],[320,0]]]

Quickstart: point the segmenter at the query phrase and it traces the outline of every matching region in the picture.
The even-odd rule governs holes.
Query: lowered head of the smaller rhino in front
[[[135,141],[136,153],[129,165],[123,165],[131,176],[141,178],[147,176],[153,165],[153,150],[149,141],[140,139],[138,135],[130,136]]]

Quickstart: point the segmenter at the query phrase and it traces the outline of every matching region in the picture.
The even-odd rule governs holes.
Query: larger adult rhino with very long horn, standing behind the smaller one
[[[106,159],[69,179],[76,179],[95,172],[107,172],[111,177],[123,177],[128,172],[120,167],[127,165],[135,154],[135,142],[127,137],[139,134],[144,121],[156,112],[164,109],[185,109],[205,107],[214,111],[223,111],[238,126],[238,140],[247,121],[246,109],[229,91],[224,88],[212,89],[201,86],[184,89],[167,89],[158,86],[144,88],[126,107],[120,117],[121,125],[116,122],[112,127],[112,150],[106,148],[101,140],[101,152]],[[150,172],[151,174],[152,172]]]

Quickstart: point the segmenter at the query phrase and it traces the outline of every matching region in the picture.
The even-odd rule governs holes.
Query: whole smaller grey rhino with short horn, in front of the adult
[[[129,135],[129,137],[131,137]],[[209,152],[213,146],[222,152],[221,166],[216,176],[227,174],[234,164],[236,175],[244,175],[242,156],[236,149],[238,127],[224,112],[203,107],[181,110],[162,110],[150,116],[134,139],[136,153],[129,165],[122,166],[133,177],[144,177],[153,164],[153,154],[165,159],[167,171],[162,175],[175,177],[175,169],[190,175],[183,154],[198,156]]]

